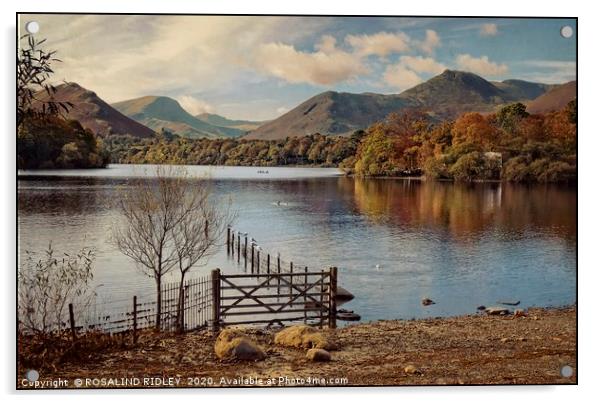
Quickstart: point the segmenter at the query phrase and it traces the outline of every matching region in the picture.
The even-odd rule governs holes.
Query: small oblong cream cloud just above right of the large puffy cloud
[[[378,32],[373,35],[347,35],[345,37],[359,56],[377,55],[385,57],[391,53],[410,49],[410,37],[403,32]]]

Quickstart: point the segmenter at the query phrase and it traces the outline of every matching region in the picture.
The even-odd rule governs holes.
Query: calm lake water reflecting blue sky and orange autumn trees
[[[216,202],[232,198],[236,229],[264,250],[310,269],[338,266],[339,283],[356,296],[344,307],[362,320],[472,313],[499,300],[576,300],[574,188],[361,180],[336,169],[190,169],[211,180]],[[116,186],[144,168],[35,173],[19,180],[21,251],[49,242],[61,252],[94,247],[99,305],[150,298],[153,280],[107,242]],[[225,248],[196,273],[214,267],[240,271]],[[423,297],[436,304],[423,307]]]

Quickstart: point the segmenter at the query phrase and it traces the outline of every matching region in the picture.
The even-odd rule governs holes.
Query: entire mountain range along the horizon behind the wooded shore
[[[39,93],[40,100],[47,99]],[[202,113],[193,116],[178,101],[145,96],[109,105],[76,83],[57,87],[55,99],[74,104],[67,117],[108,135],[152,137],[167,129],[188,138],[282,139],[321,133],[348,135],[365,129],[391,112],[418,109],[433,120],[453,119],[464,112],[493,112],[510,102],[524,102],[531,113],[563,108],[576,97],[576,82],[562,85],[523,80],[487,81],[476,74],[446,70],[400,94],[326,91],[267,122],[231,120]]]

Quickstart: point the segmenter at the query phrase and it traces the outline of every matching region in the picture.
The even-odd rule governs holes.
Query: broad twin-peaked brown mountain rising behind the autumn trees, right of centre
[[[406,108],[420,109],[435,120],[453,119],[464,112],[493,112],[505,103],[534,99],[548,87],[522,80],[492,83],[473,73],[445,70],[401,94],[323,92],[245,138],[345,135]]]

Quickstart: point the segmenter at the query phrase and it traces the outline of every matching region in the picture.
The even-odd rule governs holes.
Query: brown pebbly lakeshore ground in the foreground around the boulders
[[[260,362],[220,362],[215,336],[207,331],[147,335],[137,347],[66,363],[40,374],[40,381],[60,377],[67,387],[75,379],[83,387],[574,384],[576,328],[575,307],[529,309],[518,318],[361,323],[324,330],[339,345],[325,363],[308,361],[304,350],[274,345],[274,332],[261,329],[247,331],[266,350]],[[417,372],[407,373],[409,365]],[[565,365],[574,369],[569,377],[561,374]]]

